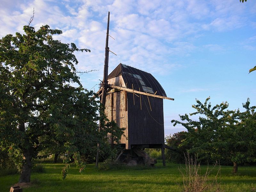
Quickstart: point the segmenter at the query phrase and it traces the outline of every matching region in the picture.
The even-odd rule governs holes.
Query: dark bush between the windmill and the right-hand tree
[[[186,139],[187,132],[177,132],[165,138],[166,144],[174,150],[165,150],[165,157],[172,163],[185,163],[184,154],[190,148],[189,145],[181,145]]]

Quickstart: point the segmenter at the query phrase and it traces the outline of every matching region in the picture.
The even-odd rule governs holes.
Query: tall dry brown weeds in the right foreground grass
[[[185,156],[185,168],[179,167],[180,173],[183,176],[183,186],[185,192],[205,192],[215,191],[220,192],[220,164],[216,162],[210,169],[207,165],[205,173],[201,173],[200,162],[197,162],[197,157]],[[218,166],[218,172],[215,179],[210,179],[209,175]]]

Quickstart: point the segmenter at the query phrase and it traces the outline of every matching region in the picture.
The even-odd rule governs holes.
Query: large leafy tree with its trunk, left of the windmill
[[[76,75],[73,53],[90,50],[54,40],[52,35],[62,31],[48,25],[38,31],[30,26],[23,29],[24,35],[0,40],[0,147],[17,156],[22,167],[19,182],[30,182],[32,159],[52,140],[63,141],[66,149],[62,178],[67,176],[71,154],[83,172],[80,152],[92,150],[106,137],[106,132],[98,132],[99,102]],[[115,124],[104,126],[117,139],[121,136]]]

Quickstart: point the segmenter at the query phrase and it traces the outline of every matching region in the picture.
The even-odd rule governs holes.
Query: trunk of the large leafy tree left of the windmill
[[[20,174],[19,183],[29,183],[30,182],[30,175],[31,175],[31,168],[32,168],[32,154],[29,150],[24,152],[25,164],[23,165],[22,172]]]

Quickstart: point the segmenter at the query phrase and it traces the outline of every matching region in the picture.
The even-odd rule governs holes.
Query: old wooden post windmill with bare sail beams
[[[126,163],[135,159],[144,164],[154,164],[143,149],[161,148],[165,165],[163,99],[174,99],[166,96],[154,76],[140,69],[120,63],[108,75],[108,31],[109,12],[104,76],[97,93],[108,119],[125,128],[119,142],[123,150],[117,159]],[[108,142],[116,144],[111,134],[108,134]]]

